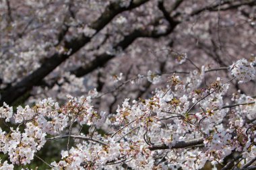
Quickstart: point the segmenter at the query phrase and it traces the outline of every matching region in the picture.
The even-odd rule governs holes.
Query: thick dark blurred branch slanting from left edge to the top
[[[90,25],[90,28],[96,30],[96,33],[100,32],[106,24],[111,22],[111,20],[119,13],[133,9],[138,7],[139,5],[146,3],[149,0],[137,0],[132,1],[129,7],[121,7],[119,5],[119,1],[110,3],[108,7],[106,7],[105,11],[102,15]],[[95,35],[95,34],[94,34]],[[69,53],[55,53],[49,58],[46,58],[42,65],[36,69],[30,75],[27,75],[20,82],[16,83],[12,87],[9,87],[6,91],[1,93],[0,105],[3,105],[3,102],[7,104],[13,103],[18,97],[24,95],[32,87],[38,84],[46,75],[49,75],[56,67],[61,65],[62,62],[67,60],[69,56],[77,52],[80,48],[85,46],[88,42],[90,42],[92,37],[87,37],[84,34],[80,34],[79,36],[73,38],[69,42],[65,42],[65,48],[69,50]]]

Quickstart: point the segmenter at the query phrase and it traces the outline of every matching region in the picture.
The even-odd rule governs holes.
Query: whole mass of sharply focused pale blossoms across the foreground
[[[53,169],[201,169],[234,154],[241,155],[243,166],[256,157],[255,98],[234,93],[226,103],[232,79],[217,77],[200,87],[205,74],[201,67],[189,77],[172,75],[166,88],[156,89],[152,97],[124,99],[116,114],[96,111],[95,90],[87,97],[68,95],[62,106],[49,98],[33,107],[18,106],[13,113],[4,104],[0,118],[18,127],[9,132],[0,128],[0,151],[11,163],[4,161],[0,168],[30,164],[46,141],[60,138],[76,138],[75,145],[67,144],[61,161],[49,164]],[[149,81],[156,81],[151,72],[148,75]],[[73,134],[73,124],[89,126],[90,132]]]

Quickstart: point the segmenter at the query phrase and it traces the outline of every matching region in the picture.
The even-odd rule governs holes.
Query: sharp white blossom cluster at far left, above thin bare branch
[[[13,115],[12,107],[4,104],[1,110],[1,118],[5,122],[13,122],[18,128],[10,128],[5,132],[0,128],[0,151],[9,155],[9,161],[13,165],[26,165],[34,159],[34,154],[46,143],[46,135],[61,134],[69,125],[71,118],[73,122],[83,124],[95,124],[101,126],[106,113],[100,115],[93,109],[86,98],[79,99],[69,96],[69,102],[62,107],[53,99],[43,99],[34,107],[26,105],[24,108],[18,106],[17,112]],[[24,130],[19,127],[25,126]],[[3,164],[3,166],[6,163]],[[11,166],[11,165],[10,165]]]

